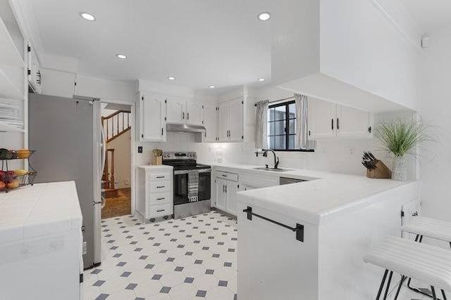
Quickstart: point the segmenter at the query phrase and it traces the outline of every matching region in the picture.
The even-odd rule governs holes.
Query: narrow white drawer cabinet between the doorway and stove
[[[146,220],[172,215],[173,167],[139,166],[136,178],[136,211]]]

